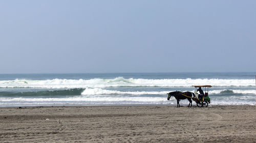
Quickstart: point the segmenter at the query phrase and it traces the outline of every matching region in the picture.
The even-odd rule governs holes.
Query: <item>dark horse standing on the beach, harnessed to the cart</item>
[[[191,104],[190,107],[192,107],[192,101],[191,101],[191,98],[189,98],[189,97],[192,97],[192,95],[193,95],[193,97],[195,97],[194,93],[191,93],[191,92],[180,92],[180,91],[170,92],[170,93],[167,93],[167,95],[168,95],[167,100],[169,100],[171,96],[174,96],[176,98],[176,100],[177,100],[177,108],[178,108],[178,106],[180,107],[180,100],[181,99],[187,99],[189,101],[188,107],[189,107],[190,104]],[[184,95],[186,95],[188,97],[186,97]]]

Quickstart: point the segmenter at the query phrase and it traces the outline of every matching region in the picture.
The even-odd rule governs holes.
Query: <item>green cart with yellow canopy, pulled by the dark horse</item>
[[[198,107],[207,107],[208,104],[210,103],[210,98],[208,95],[208,88],[211,88],[211,85],[193,85],[192,87],[195,87],[195,97],[192,98],[196,103]],[[205,88],[204,90],[204,96],[199,97],[199,94],[197,93],[197,88]],[[206,92],[206,88],[207,88],[207,92]]]

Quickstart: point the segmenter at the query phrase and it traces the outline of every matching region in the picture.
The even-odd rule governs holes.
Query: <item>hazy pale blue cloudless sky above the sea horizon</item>
[[[256,1],[0,1],[0,73],[256,71]]]

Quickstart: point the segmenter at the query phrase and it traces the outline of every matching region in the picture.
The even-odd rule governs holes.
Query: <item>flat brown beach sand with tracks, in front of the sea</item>
[[[255,106],[0,108],[0,142],[256,142]]]

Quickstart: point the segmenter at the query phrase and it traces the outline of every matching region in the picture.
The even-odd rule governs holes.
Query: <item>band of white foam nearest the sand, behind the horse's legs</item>
[[[181,100],[181,104],[188,104],[187,100]],[[166,97],[65,97],[65,98],[0,98],[0,106],[6,105],[74,105],[74,104],[176,104],[175,98]],[[193,102],[195,105],[195,102]],[[211,98],[214,105],[255,105],[254,96]]]

